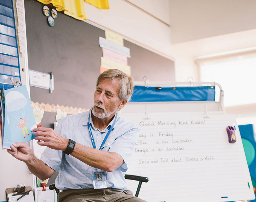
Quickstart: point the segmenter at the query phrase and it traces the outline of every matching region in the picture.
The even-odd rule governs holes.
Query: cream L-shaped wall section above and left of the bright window
[[[192,76],[198,81],[195,58],[209,54],[256,46],[256,29],[173,44],[176,81]]]

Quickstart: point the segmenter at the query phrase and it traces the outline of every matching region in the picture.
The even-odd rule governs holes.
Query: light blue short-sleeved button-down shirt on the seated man
[[[87,127],[89,113],[88,111],[61,119],[55,131],[67,139],[72,139],[79,144],[93,148]],[[90,116],[92,135],[97,149],[100,148],[113,121],[114,119],[109,123],[107,128],[99,131],[94,127]],[[124,164],[113,172],[106,172],[108,188],[127,190],[124,175],[138,137],[139,129],[134,124],[117,117],[116,124],[101,150],[118,153],[124,159]],[[48,147],[42,154],[41,160],[55,171],[60,170],[55,180],[55,186],[60,190],[93,188],[93,173],[102,172],[102,170],[88,166],[71,155]]]

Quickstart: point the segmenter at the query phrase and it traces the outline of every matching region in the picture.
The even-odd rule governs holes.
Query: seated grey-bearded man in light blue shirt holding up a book
[[[55,186],[64,190],[59,201],[141,202],[131,195],[124,179],[139,130],[116,115],[132,96],[132,79],[110,69],[100,74],[96,86],[89,112],[61,119],[55,130],[32,131],[38,144],[48,147],[41,160],[26,143],[12,144],[8,152],[41,180],[60,170],[55,180]]]

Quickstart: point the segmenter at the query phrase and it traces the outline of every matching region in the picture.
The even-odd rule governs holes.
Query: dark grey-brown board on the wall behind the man
[[[96,79],[100,74],[102,48],[99,37],[105,30],[58,12],[50,27],[42,12],[44,4],[25,0],[28,67],[54,75],[54,90],[30,86],[31,101],[89,109],[93,104]],[[49,6],[50,7],[50,6]],[[50,7],[51,8],[51,7]],[[134,81],[147,76],[150,81],[174,81],[174,62],[134,43],[130,48],[131,75]],[[56,113],[44,113],[41,124],[53,127]]]

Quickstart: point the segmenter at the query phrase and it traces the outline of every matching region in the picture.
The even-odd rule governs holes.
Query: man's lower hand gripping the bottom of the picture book
[[[7,152],[25,163],[28,162],[30,155],[33,155],[32,149],[25,142],[12,143]]]

